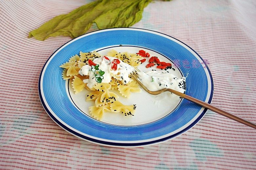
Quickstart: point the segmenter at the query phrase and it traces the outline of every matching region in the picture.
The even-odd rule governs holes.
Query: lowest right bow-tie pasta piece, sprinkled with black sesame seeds
[[[127,115],[134,116],[134,113],[136,110],[136,104],[127,106],[117,100],[114,103],[110,104],[110,110],[112,112],[122,112],[125,116]]]

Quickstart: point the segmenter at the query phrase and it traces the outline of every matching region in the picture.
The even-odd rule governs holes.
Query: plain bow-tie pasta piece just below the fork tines
[[[119,84],[117,86],[118,91],[124,96],[129,97],[131,92],[138,93],[141,91],[139,85],[136,83],[136,81],[132,81],[126,85]]]

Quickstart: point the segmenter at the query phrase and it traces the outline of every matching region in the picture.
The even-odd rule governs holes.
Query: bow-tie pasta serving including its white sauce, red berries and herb
[[[118,101],[118,93],[129,97],[131,93],[141,91],[139,84],[132,79],[132,71],[139,66],[140,55],[118,53],[110,50],[108,56],[101,56],[98,52],[83,53],[72,56],[63,63],[62,78],[72,81],[75,94],[89,90],[86,101],[94,101],[89,107],[93,118],[100,120],[104,112],[120,112],[125,116],[134,115],[136,104],[123,105]]]

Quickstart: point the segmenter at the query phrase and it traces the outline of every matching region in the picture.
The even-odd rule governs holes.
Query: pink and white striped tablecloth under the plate
[[[92,144],[54,123],[40,103],[38,77],[71,38],[27,36],[89,2],[0,0],[0,169],[256,169],[256,130],[212,111],[181,136],[139,148]],[[196,50],[209,62],[212,104],[256,123],[255,20],[254,0],[155,0],[133,27],[173,36]]]

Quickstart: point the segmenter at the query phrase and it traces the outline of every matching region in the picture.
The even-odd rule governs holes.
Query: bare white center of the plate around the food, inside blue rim
[[[149,50],[144,49],[141,47],[135,47],[135,46],[115,46],[115,47],[109,47],[104,49],[97,49],[98,53],[101,55],[106,55],[111,50],[115,49],[117,52],[128,52],[128,53],[137,53],[139,50],[143,49],[144,51],[148,52],[150,56],[157,56],[160,61],[170,62],[169,59],[162,56],[161,54]],[[85,52],[85,51],[83,51]],[[146,64],[146,63],[145,63]],[[139,68],[141,70],[145,70],[145,64],[140,65]],[[174,64],[172,64],[174,65]],[[153,67],[152,67],[153,68]],[[152,70],[152,68],[150,68]],[[154,68],[155,69],[155,68]],[[181,74],[181,71],[178,68],[169,69],[168,71],[171,74],[176,75],[177,77],[183,76]],[[66,89],[67,89],[67,95],[70,96],[71,102],[84,114],[90,115],[89,107],[94,106],[94,101],[86,102],[86,96],[90,92],[84,89],[82,92],[75,94],[73,91],[71,81],[66,80]],[[145,90],[141,88],[140,93],[131,93],[129,98],[123,97],[118,91],[114,91],[118,94],[119,98],[118,100],[123,103],[124,105],[133,105],[136,104],[136,112],[134,113],[134,116],[125,116],[122,113],[112,113],[112,112],[106,112],[103,114],[101,122],[112,124],[112,125],[120,125],[120,126],[136,126],[136,125],[143,125],[147,123],[151,123],[154,121],[157,121],[166,115],[170,114],[173,110],[177,108],[179,103],[181,102],[181,99],[174,100],[167,95],[167,93],[170,92],[164,92],[159,95],[151,95],[147,93]]]

